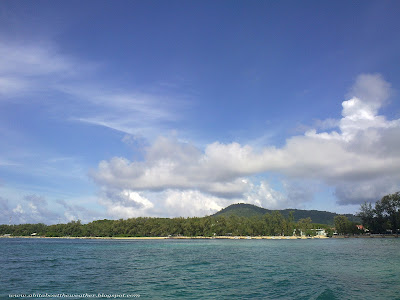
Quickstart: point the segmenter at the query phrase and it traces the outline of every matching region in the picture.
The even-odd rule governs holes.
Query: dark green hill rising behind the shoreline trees
[[[254,217],[254,216],[263,216],[266,213],[271,213],[273,211],[274,210],[258,207],[252,204],[238,203],[229,205],[228,207],[221,209],[219,212],[213,214],[212,216],[229,217],[231,215],[236,215],[238,217]],[[333,218],[339,215],[336,213],[328,211],[319,211],[319,210],[283,209],[277,211],[279,211],[284,217],[288,217],[289,213],[293,211],[293,216],[296,222],[300,219],[305,219],[310,217],[313,223],[329,224],[329,225],[333,225]],[[361,220],[358,217],[352,214],[345,214],[345,216],[350,221],[361,222]]]

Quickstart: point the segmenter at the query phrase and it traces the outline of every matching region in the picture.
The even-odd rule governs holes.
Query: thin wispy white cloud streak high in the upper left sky
[[[187,106],[182,97],[165,89],[143,92],[137,87],[121,90],[107,83],[100,86],[101,72],[107,72],[106,66],[69,57],[50,43],[30,45],[0,39],[3,101],[21,96],[45,106],[57,101],[51,112],[62,107],[59,113],[67,120],[150,138],[168,132]],[[35,93],[40,97],[32,97]]]

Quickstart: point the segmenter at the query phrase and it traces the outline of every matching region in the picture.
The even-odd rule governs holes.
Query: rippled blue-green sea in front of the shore
[[[33,293],[68,299],[400,299],[400,239],[394,238],[3,238],[0,254],[1,299]]]

